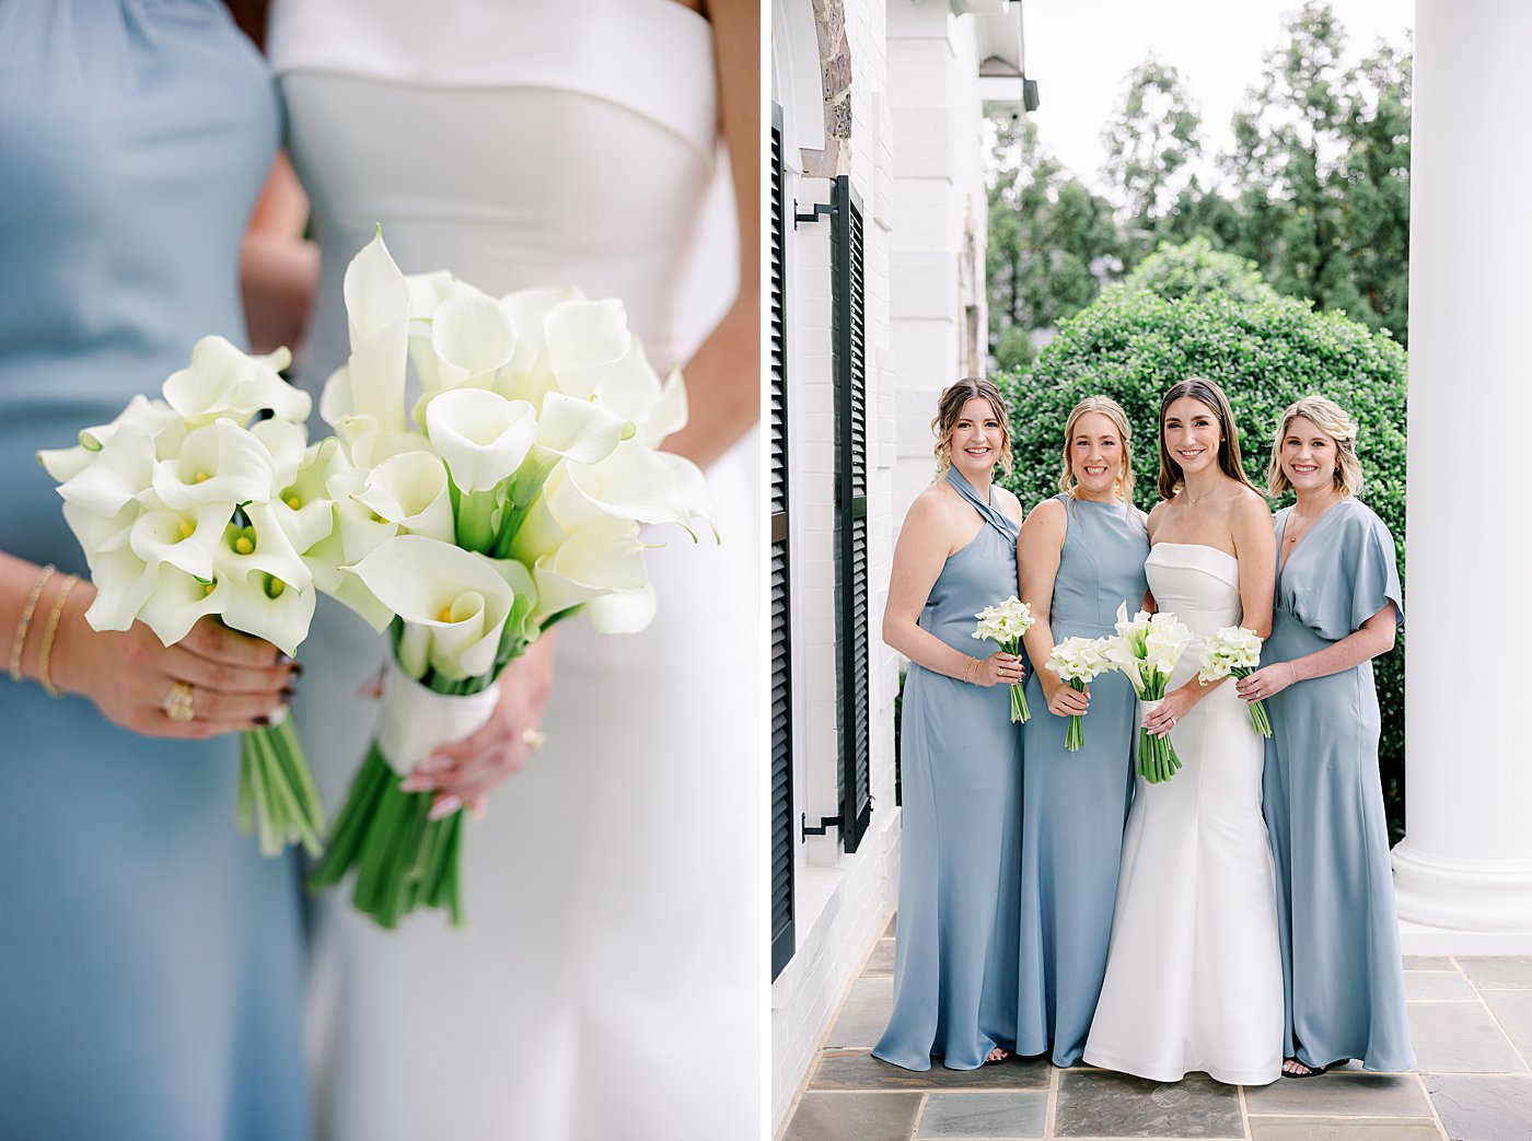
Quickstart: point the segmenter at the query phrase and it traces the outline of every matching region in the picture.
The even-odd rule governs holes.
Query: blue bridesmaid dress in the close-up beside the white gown
[[[277,136],[214,0],[0,0],[0,550],[83,574],[37,449],[244,342]],[[9,680],[0,726],[0,1136],[309,1136],[297,867],[234,827],[237,741]]]

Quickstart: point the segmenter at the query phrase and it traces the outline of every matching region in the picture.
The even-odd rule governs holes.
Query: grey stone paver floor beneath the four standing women
[[[912,1074],[872,1057],[893,992],[889,924],[778,1141],[1230,1138],[1532,1141],[1532,957],[1405,956],[1419,1071],[1160,1084],[1043,1060]]]

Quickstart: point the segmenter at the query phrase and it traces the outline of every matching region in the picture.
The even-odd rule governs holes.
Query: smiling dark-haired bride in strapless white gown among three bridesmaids
[[[1149,593],[1198,640],[1144,727],[1170,735],[1183,767],[1167,784],[1138,781],[1085,1060],[1155,1081],[1206,1071],[1261,1086],[1282,1072],[1262,743],[1233,686],[1200,686],[1196,671],[1200,639],[1218,628],[1270,633],[1276,541],[1229,400],[1209,380],[1183,380],[1160,404],[1160,495]]]

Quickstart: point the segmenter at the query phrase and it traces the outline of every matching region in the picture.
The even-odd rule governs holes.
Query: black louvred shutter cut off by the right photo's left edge
[[[771,977],[792,959],[792,631],[787,582],[787,228],[781,107],[771,109]]]

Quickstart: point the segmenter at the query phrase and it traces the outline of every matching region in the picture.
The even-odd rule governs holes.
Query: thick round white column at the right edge
[[[1414,953],[1532,953],[1532,5],[1417,0],[1406,818]],[[1504,652],[1471,652],[1485,642]]]

